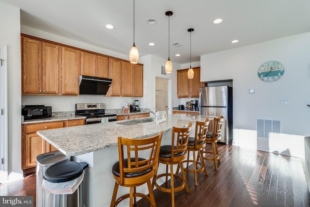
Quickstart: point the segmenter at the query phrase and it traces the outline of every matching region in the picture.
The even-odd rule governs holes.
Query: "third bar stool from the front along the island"
[[[205,139],[207,135],[207,130],[209,126],[209,119],[206,118],[204,122],[196,121],[195,127],[195,137],[189,137],[188,146],[187,146],[187,159],[183,160],[182,163],[186,163],[186,168],[184,170],[189,173],[194,173],[195,185],[198,185],[197,182],[197,173],[204,172],[205,175],[208,175],[204,160],[198,161],[196,160],[196,152],[198,153],[197,156],[203,157],[203,149],[206,145]],[[193,153],[193,159],[189,159],[189,152]],[[188,164],[193,163],[194,170],[190,170],[188,168]],[[200,166],[198,166],[200,165]],[[178,166],[179,169],[179,166]],[[177,172],[179,171],[177,169]]]

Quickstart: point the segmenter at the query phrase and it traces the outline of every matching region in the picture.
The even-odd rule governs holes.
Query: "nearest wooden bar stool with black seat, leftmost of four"
[[[145,198],[152,207],[156,207],[151,178],[157,172],[158,156],[162,131],[159,134],[145,139],[129,139],[118,137],[119,160],[112,167],[115,186],[110,207],[117,206],[121,201],[129,198],[132,207],[136,205],[136,197]],[[124,156],[127,154],[127,158]],[[146,158],[139,155],[147,155]],[[144,157],[143,156],[143,157]],[[149,196],[138,193],[136,187],[147,183]],[[119,186],[129,187],[130,192],[118,198],[116,195]]]

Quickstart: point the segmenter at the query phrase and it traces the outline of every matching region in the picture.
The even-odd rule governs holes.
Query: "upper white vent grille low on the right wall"
[[[257,119],[257,137],[275,138],[279,137],[280,121]]]

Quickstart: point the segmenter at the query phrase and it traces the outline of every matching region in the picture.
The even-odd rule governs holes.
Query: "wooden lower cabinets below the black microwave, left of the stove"
[[[43,153],[56,151],[57,149],[39,135],[36,131],[62,128],[62,127],[72,127],[78,125],[84,125],[85,119],[77,120],[65,120],[65,121],[55,121],[55,122],[44,122],[36,124],[24,124],[21,127],[22,131],[22,144],[21,144],[21,168],[22,170],[28,170],[33,168],[28,172],[34,172],[36,167],[36,158],[38,155]]]

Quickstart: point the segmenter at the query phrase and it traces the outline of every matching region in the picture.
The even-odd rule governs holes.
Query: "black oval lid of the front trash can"
[[[51,183],[67,182],[82,175],[87,167],[87,162],[59,162],[47,168],[43,178]]]

